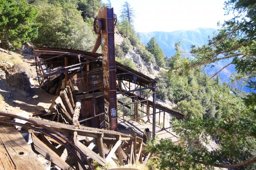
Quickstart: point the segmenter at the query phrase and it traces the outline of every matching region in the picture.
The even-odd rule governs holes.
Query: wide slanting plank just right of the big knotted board
[[[34,133],[32,133],[32,139],[34,143],[34,148],[37,152],[43,155],[47,160],[50,160],[52,163],[64,170],[73,170],[72,166],[68,165],[64,160],[53,152],[46,144],[39,140]]]

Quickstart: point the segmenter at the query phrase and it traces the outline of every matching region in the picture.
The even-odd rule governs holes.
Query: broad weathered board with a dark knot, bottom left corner
[[[0,136],[1,150],[6,150],[5,154],[0,155],[0,164],[4,164],[6,168],[10,167],[10,169],[15,166],[15,169],[18,170],[45,170],[26,140],[14,127],[0,124]],[[4,156],[3,159],[2,156]],[[6,156],[11,160],[8,164]]]

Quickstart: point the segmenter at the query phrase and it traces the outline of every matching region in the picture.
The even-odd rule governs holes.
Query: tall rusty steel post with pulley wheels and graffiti
[[[113,8],[100,9],[98,18],[94,20],[94,31],[98,34],[98,37],[92,52],[96,52],[100,44],[102,47],[105,126],[107,129],[117,130]]]

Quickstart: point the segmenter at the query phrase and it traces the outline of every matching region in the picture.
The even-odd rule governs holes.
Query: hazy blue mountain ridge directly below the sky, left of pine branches
[[[155,37],[165,55],[171,57],[175,53],[175,42],[181,41],[182,48],[189,50],[191,45],[204,45],[208,43],[208,36],[212,36],[213,32],[217,32],[213,28],[197,28],[194,30],[180,30],[174,32],[149,32],[138,33],[140,40],[147,45],[150,38]]]

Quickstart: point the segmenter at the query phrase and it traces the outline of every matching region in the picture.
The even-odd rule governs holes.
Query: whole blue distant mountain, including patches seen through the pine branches
[[[147,45],[150,38],[155,37],[156,41],[159,43],[160,47],[163,49],[164,54],[168,57],[172,57],[175,53],[175,42],[181,41],[182,48],[189,51],[191,45],[199,45],[202,46],[208,43],[208,36],[212,37],[213,32],[218,32],[218,30],[214,28],[197,28],[194,30],[180,30],[174,32],[149,32],[149,33],[138,33],[140,35],[140,41]],[[212,75],[219,71],[222,67],[227,65],[229,61],[218,61],[212,65],[206,67],[205,71],[208,75]],[[234,65],[230,65],[226,67],[219,73],[220,80],[223,82],[229,82],[229,77],[232,72],[235,71]],[[239,88],[246,92],[254,91],[252,89],[248,89],[247,87]],[[254,91],[255,92],[255,91]]]

